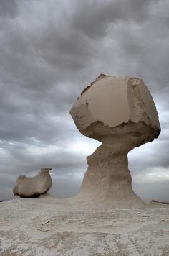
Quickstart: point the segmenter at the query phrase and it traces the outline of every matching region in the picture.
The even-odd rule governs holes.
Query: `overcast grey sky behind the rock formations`
[[[72,196],[100,145],[69,115],[100,73],[150,89],[162,132],[130,152],[132,186],[169,201],[169,1],[0,1],[0,201],[19,174],[52,167],[51,193]]]

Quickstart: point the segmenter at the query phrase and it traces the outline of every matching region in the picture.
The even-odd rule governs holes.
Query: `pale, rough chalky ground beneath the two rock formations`
[[[87,209],[44,196],[0,203],[0,255],[169,255],[169,206]]]

